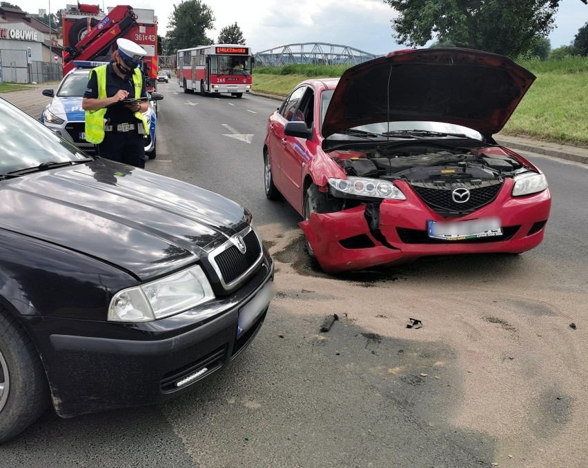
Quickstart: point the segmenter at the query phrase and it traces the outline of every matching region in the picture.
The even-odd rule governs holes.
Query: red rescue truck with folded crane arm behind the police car
[[[63,25],[63,76],[74,61],[108,61],[112,45],[121,37],[144,48],[141,70],[148,92],[157,90],[157,17],[154,10],[117,5],[102,12],[98,5],[77,3],[61,10]]]

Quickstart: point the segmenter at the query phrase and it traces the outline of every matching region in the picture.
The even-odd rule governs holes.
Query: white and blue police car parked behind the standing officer
[[[61,83],[57,92],[52,88],[46,88],[42,91],[44,96],[53,99],[41,113],[39,119],[44,125],[51,130],[58,132],[63,138],[75,143],[81,150],[89,154],[95,154],[95,146],[86,141],[85,129],[85,112],[81,108],[81,100],[84,99],[84,92],[88,87],[88,74],[92,68],[98,65],[104,65],[104,62],[92,61],[74,61],[74,68],[68,72]],[[157,122],[157,112],[154,101],[149,102],[149,107],[144,112],[144,116],[149,122],[149,134],[144,135],[145,153],[149,159],[155,159],[157,150],[155,147],[155,123]]]

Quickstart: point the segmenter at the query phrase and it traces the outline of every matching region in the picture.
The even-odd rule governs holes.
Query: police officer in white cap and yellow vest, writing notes
[[[128,39],[117,39],[112,61],[90,70],[81,107],[86,111],[86,141],[95,143],[102,158],[145,167],[144,134],[149,123],[142,114],[147,101],[121,103],[146,97],[143,74],[137,68],[147,52]]]

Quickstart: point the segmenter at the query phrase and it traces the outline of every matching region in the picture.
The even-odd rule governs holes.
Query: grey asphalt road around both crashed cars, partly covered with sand
[[[195,391],[71,420],[49,410],[0,447],[0,467],[587,465],[588,167],[525,154],[553,194],[536,250],[329,276],[308,261],[300,216],[264,196],[279,103],[159,91],[146,169],[248,207],[277,297],[251,347]],[[327,314],[340,319],[320,333]]]

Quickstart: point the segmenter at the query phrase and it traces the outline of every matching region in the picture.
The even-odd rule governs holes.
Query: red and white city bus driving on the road
[[[201,45],[177,51],[177,84],[184,92],[231,94],[251,92],[251,48],[239,44]]]

